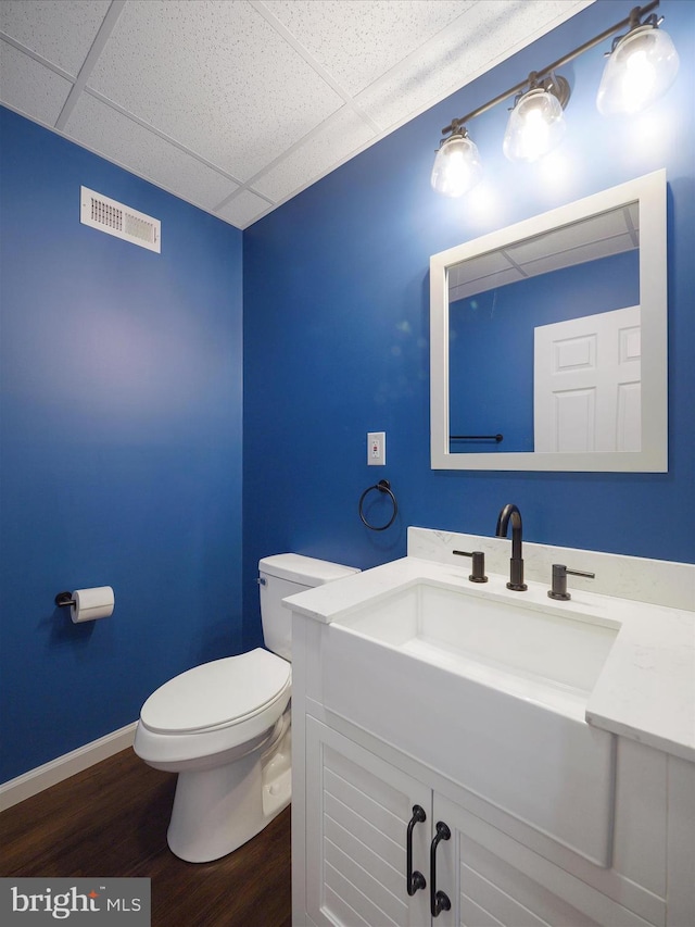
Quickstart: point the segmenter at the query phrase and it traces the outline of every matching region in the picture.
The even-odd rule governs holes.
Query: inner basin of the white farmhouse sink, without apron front
[[[583,721],[620,626],[568,615],[549,600],[544,609],[528,606],[522,593],[511,594],[519,599],[421,580],[336,625]]]

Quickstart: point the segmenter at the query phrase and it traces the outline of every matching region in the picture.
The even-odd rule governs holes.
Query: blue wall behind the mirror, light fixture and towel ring
[[[281,550],[376,565],[405,553],[408,525],[492,535],[505,502],[519,505],[529,540],[695,561],[695,4],[661,3],[681,71],[656,114],[598,114],[602,46],[560,70],[572,98],[556,156],[507,162],[502,104],[468,126],[483,184],[460,200],[429,187],[441,126],[630,10],[599,0],[247,230],[248,580],[258,556]],[[669,183],[669,473],[431,471],[429,256],[659,167]],[[386,467],[366,466],[368,430],[387,431]],[[400,514],[376,534],[362,525],[357,501],[383,477]],[[250,618],[254,609],[249,592]],[[257,640],[257,619],[244,627],[248,642]]]

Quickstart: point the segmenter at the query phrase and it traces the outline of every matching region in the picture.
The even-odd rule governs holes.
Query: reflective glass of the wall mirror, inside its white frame
[[[637,215],[450,267],[452,453],[640,450]]]

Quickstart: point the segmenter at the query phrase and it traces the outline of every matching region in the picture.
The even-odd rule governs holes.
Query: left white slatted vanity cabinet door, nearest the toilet
[[[428,877],[431,790],[315,718],[306,719],[306,898],[316,925],[427,927],[429,886],[409,897],[413,867]]]

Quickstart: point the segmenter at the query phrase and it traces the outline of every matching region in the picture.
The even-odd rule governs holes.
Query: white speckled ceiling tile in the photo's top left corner
[[[110,0],[3,0],[0,29],[76,77]]]

